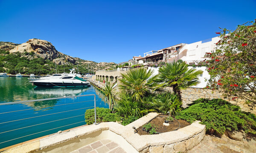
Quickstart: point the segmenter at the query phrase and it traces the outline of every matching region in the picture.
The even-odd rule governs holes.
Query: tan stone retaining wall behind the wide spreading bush
[[[228,102],[238,105],[241,107],[241,110],[246,111],[246,112],[251,112],[256,114],[256,109],[253,108],[251,109],[250,106],[245,104],[245,101],[242,99],[225,99],[222,96],[222,93],[219,91],[212,91],[210,89],[202,89],[202,88],[188,88],[186,90],[182,91],[182,100],[183,100],[183,107],[186,108],[188,104],[192,103],[194,100],[199,99],[199,98],[209,98],[209,99],[215,99],[215,98],[221,98],[224,100],[227,100]]]

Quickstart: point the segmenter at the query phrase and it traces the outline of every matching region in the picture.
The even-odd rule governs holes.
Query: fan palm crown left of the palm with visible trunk
[[[151,77],[153,70],[147,70],[145,68],[136,68],[127,71],[126,74],[121,74],[122,79],[119,79],[119,88],[126,91],[136,101],[141,101],[142,97],[150,93],[152,87],[154,87],[153,80],[156,76]]]

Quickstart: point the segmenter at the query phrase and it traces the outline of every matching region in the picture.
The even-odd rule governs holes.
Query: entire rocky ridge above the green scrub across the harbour
[[[74,65],[79,65],[84,69],[89,69],[90,71],[102,70],[102,69],[112,69],[116,67],[116,63],[113,62],[93,62],[84,59],[80,59],[78,57],[71,57],[69,55],[63,54],[56,50],[56,48],[52,45],[51,42],[46,40],[39,39],[30,39],[27,42],[22,44],[15,44],[13,42],[0,42],[0,56],[10,56],[9,54],[18,55],[20,58],[25,58],[28,60],[45,60],[44,65],[49,65],[50,63],[46,61],[51,61],[52,63],[56,63],[57,65],[69,65],[70,67],[77,67]],[[8,59],[8,58],[6,58]],[[3,60],[6,60],[3,59]],[[1,61],[0,61],[1,62]],[[0,63],[3,66],[2,68],[6,70],[4,65],[8,65],[9,61],[2,61],[4,63]],[[14,67],[15,64],[12,63]],[[73,65],[73,66],[71,66]],[[60,66],[62,67],[62,66]],[[24,67],[25,68],[25,67]],[[23,69],[24,69],[23,68]],[[8,68],[7,68],[8,69]]]

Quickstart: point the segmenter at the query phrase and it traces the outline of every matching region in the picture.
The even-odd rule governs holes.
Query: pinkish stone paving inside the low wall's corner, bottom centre
[[[87,146],[81,147],[71,153],[126,153],[115,142],[104,139],[97,142],[93,142]]]

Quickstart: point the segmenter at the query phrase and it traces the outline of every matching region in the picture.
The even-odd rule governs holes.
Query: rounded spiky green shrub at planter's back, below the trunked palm
[[[175,94],[163,93],[153,99],[152,107],[158,113],[175,116],[181,111],[181,102]]]

